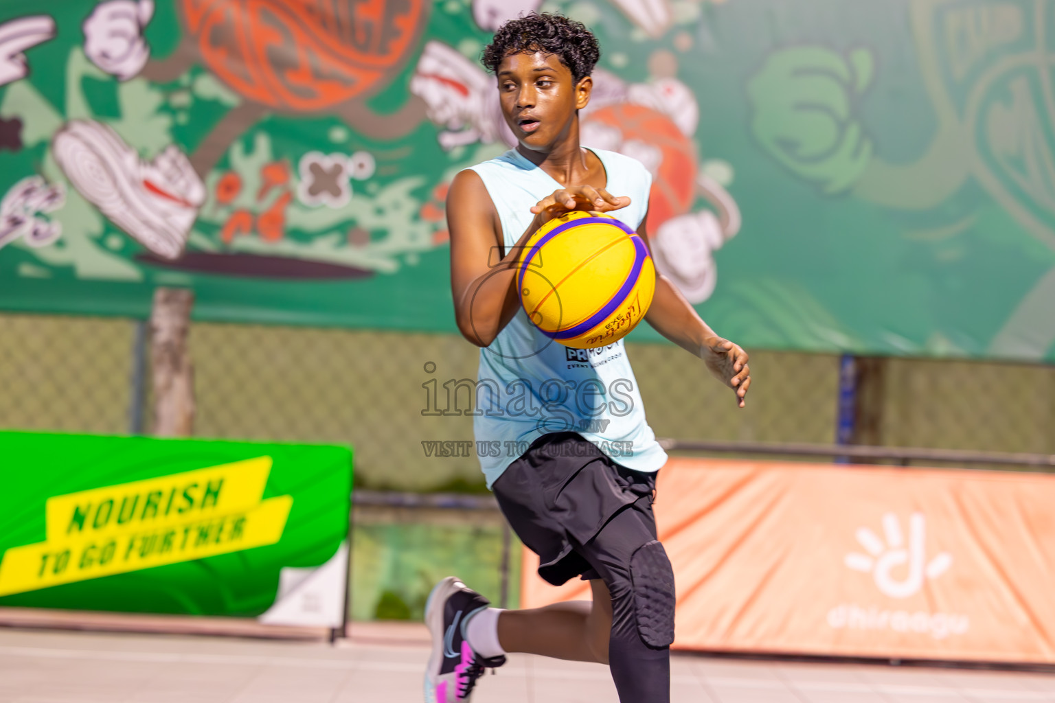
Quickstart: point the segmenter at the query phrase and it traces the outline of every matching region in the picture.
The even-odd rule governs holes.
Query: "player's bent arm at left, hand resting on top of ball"
[[[625,208],[630,198],[615,197],[590,185],[554,191],[532,208],[535,218],[507,252],[502,247],[498,212],[479,174],[465,170],[455,176],[446,204],[455,320],[463,337],[477,347],[487,347],[520,306],[516,262],[531,235],[570,210],[607,212]]]

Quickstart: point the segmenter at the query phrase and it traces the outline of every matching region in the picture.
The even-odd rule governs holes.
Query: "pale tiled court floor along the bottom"
[[[420,640],[0,629],[0,703],[417,703]],[[1055,675],[675,656],[676,703],[1055,703]],[[606,667],[512,656],[476,703],[615,702]]]

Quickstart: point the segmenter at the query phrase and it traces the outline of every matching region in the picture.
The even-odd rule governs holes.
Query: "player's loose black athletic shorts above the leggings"
[[[656,539],[655,475],[619,466],[580,434],[554,432],[532,443],[492,489],[513,531],[539,555],[539,575],[559,586],[577,575],[600,579],[576,548],[621,510],[637,511]]]

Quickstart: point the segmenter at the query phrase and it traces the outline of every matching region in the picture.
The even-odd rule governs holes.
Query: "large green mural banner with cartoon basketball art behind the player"
[[[0,0],[0,309],[456,331],[446,188],[531,9],[597,34],[582,141],[721,334],[1055,359],[1055,0]]]

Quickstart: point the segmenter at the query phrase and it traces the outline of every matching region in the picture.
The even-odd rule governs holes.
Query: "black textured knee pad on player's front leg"
[[[674,570],[667,550],[653,540],[630,558],[637,632],[650,647],[669,647],[674,641]]]

